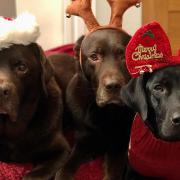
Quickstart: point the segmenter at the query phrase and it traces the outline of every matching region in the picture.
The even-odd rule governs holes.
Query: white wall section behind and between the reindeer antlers
[[[66,1],[66,0],[65,0]],[[69,4],[66,2],[65,7]],[[92,1],[93,12],[98,19],[98,22],[102,25],[108,24],[111,16],[110,7],[106,0],[93,0]],[[133,35],[134,32],[142,24],[142,9],[131,7],[129,8],[123,17],[123,29],[126,30],[129,34]],[[70,19],[65,18],[65,31],[64,31],[64,43],[69,43],[76,41],[77,38],[86,33],[86,28],[84,22],[79,17],[71,17]],[[70,36],[71,34],[71,36]]]

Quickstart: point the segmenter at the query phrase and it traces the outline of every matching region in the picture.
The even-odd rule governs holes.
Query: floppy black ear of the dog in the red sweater
[[[133,78],[121,89],[123,102],[136,112],[141,114],[142,119],[147,120],[148,104],[144,88],[144,77]]]

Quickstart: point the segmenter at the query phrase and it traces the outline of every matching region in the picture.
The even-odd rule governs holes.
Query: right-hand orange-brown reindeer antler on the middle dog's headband
[[[141,0],[107,0],[111,7],[110,26],[122,27],[122,16],[124,12],[131,6],[139,7]]]

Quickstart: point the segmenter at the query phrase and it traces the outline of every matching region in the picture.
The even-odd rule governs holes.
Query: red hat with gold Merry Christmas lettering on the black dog
[[[126,65],[133,77],[177,64],[180,56],[172,55],[169,39],[157,22],[141,27],[127,45]]]

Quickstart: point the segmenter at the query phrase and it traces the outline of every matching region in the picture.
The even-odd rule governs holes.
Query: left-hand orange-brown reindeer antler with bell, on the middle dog
[[[71,5],[69,5],[66,9],[67,14],[80,16],[84,20],[89,31],[100,26],[91,9],[92,0],[71,1]]]

